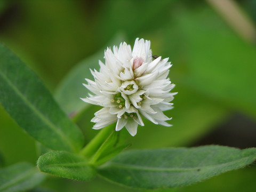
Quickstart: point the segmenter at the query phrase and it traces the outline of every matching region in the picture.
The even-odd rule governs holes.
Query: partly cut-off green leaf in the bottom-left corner
[[[0,191],[15,192],[31,189],[39,185],[45,176],[29,163],[17,163],[0,170]]]

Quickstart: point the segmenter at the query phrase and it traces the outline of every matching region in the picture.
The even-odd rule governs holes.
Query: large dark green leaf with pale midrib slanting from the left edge
[[[83,146],[82,132],[33,71],[3,44],[0,44],[0,102],[44,146],[68,151],[78,151]]]

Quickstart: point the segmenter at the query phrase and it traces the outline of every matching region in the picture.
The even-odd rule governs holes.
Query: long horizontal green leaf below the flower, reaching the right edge
[[[256,159],[256,148],[223,146],[131,150],[102,165],[110,181],[144,189],[186,186],[241,168]]]

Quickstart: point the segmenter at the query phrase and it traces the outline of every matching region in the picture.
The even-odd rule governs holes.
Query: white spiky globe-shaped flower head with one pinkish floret
[[[105,50],[105,64],[99,61],[100,70],[91,70],[94,81],[86,79],[83,84],[94,95],[82,99],[103,108],[92,118],[93,129],[101,129],[116,123],[116,131],[124,126],[134,136],[138,124],[144,126],[141,116],[155,124],[171,126],[165,121],[171,118],[163,111],[173,103],[170,93],[175,86],[167,78],[171,62],[169,58],[154,57],[150,41],[137,38],[133,50],[125,42]]]

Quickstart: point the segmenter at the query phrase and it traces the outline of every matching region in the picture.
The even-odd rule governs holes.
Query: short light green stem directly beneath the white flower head
[[[104,127],[82,150],[81,155],[91,157],[113,131],[113,125]]]

